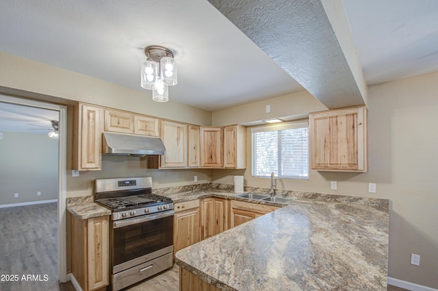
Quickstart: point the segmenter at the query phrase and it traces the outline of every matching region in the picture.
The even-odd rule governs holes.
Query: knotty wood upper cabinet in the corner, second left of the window
[[[222,127],[201,127],[201,166],[221,168],[223,160]]]

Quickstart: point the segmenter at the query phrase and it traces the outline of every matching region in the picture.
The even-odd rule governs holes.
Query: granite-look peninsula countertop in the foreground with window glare
[[[387,207],[296,199],[176,254],[220,290],[387,290]]]

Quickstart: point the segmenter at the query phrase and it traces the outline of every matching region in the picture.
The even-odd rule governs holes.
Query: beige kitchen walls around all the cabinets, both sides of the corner
[[[325,109],[309,93],[299,92],[211,114],[173,102],[154,103],[148,92],[5,53],[0,53],[0,63],[0,92],[15,92],[35,99],[52,100],[51,97],[55,97],[54,100],[62,104],[83,101],[198,125],[252,123],[283,116],[302,118],[308,112]],[[278,183],[278,188],[290,190],[390,199],[389,276],[432,288],[438,288],[436,84],[438,73],[369,88],[368,173],[311,171],[309,181],[282,180]],[[270,114],[265,113],[268,104],[271,105]],[[70,160],[71,123],[68,128]],[[134,175],[151,175],[154,188],[192,184],[194,175],[198,175],[198,183],[227,184],[233,184],[233,175],[244,175],[245,185],[268,187],[268,180],[250,176],[249,163],[248,170],[148,170],[145,160],[140,158],[103,157],[102,171],[81,172],[80,177],[71,177],[68,172],[68,197],[92,194],[96,178]],[[67,168],[70,170],[70,164]],[[330,181],[338,181],[338,190],[330,190]],[[376,194],[367,192],[369,182],[377,183]],[[411,253],[422,256],[419,267],[409,264]]]

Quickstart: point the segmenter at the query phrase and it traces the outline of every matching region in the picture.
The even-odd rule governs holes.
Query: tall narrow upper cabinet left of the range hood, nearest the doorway
[[[103,108],[77,103],[73,107],[73,170],[101,170]]]

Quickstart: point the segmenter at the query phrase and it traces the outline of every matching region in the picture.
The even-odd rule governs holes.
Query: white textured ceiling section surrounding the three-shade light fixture
[[[218,110],[302,90],[292,77],[203,0],[3,0],[0,51],[140,87],[143,48],[175,51],[170,100]]]

